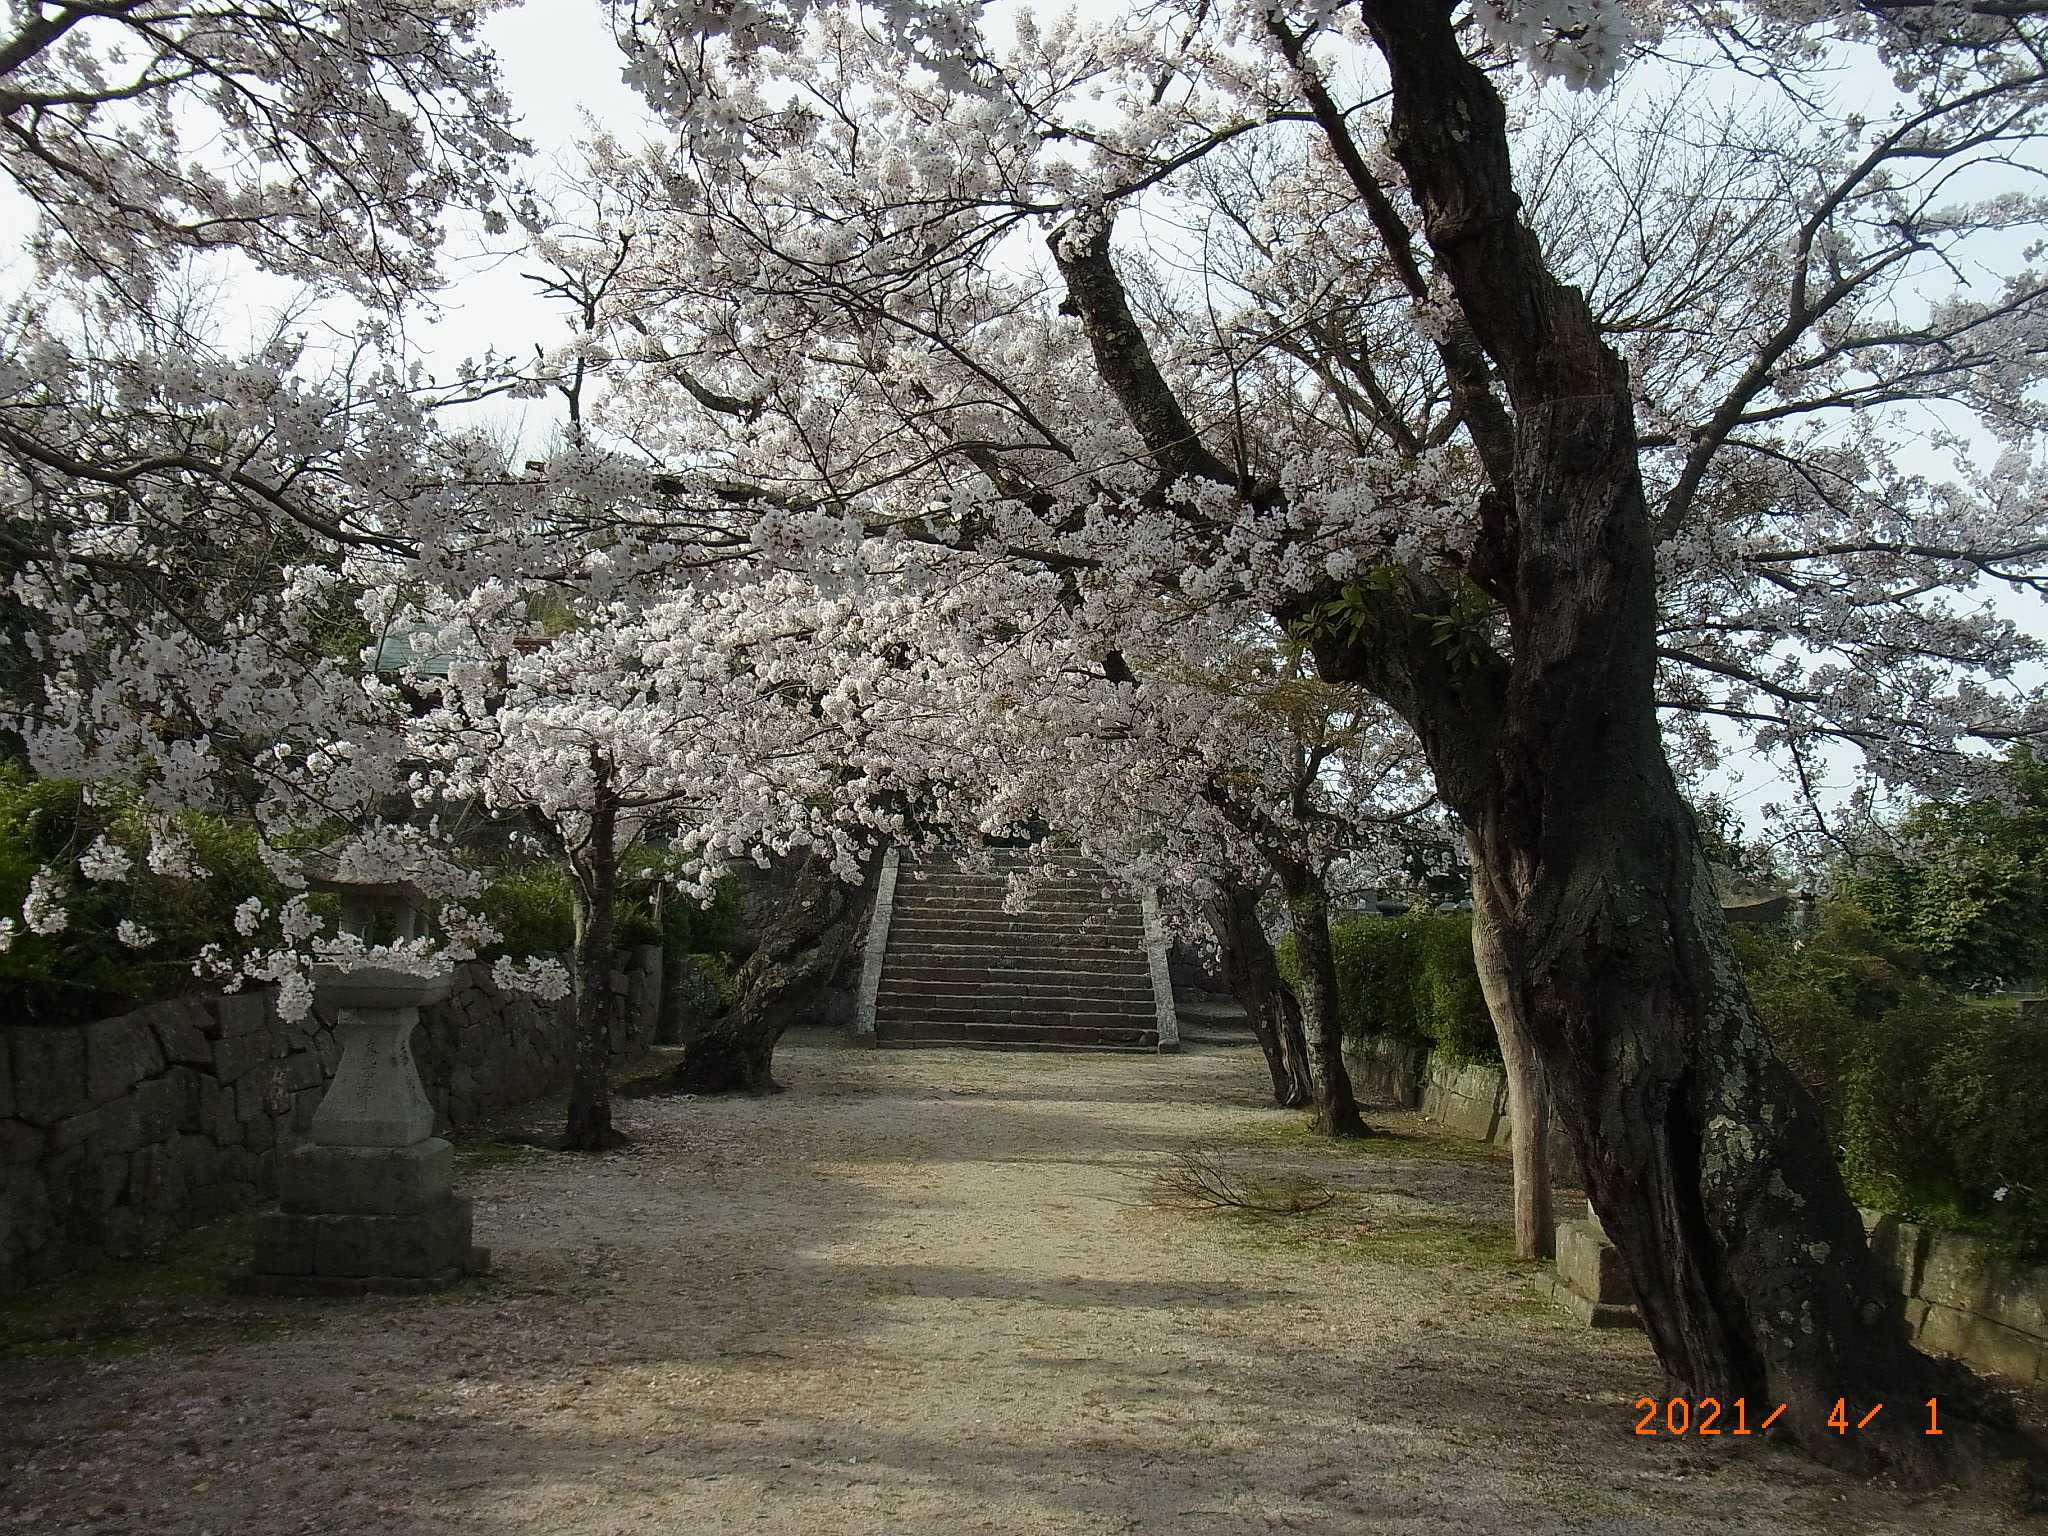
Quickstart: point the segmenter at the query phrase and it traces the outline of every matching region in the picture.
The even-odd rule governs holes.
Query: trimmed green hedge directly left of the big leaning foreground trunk
[[[1415,1040],[1458,1065],[1501,1059],[1473,967],[1466,913],[1343,918],[1329,926],[1329,944],[1346,1038]],[[1280,944],[1280,973],[1298,989],[1292,934]]]

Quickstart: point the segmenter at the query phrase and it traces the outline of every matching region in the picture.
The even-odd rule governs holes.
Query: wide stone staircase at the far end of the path
[[[1044,881],[1004,911],[1006,874],[903,860],[881,985],[877,1044],[1159,1051],[1143,909],[1102,874]],[[1176,1049],[1178,1038],[1165,1049]]]

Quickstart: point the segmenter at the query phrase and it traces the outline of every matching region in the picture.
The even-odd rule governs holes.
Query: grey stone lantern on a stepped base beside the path
[[[406,881],[307,877],[342,897],[342,932],[391,944],[424,932],[426,895]],[[324,965],[315,999],[336,1012],[342,1059],[289,1151],[281,1210],[262,1219],[250,1286],[272,1294],[436,1290],[479,1272],[469,1200],[451,1190],[455,1149],[434,1135],[434,1106],[412,1061],[420,1010],[449,995],[453,973]]]

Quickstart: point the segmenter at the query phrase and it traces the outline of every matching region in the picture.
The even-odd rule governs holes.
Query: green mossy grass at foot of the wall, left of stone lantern
[[[248,1268],[254,1241],[254,1214],[227,1217],[166,1239],[150,1257],[0,1296],[0,1360],[123,1356],[283,1327],[279,1313],[229,1296],[227,1278]]]

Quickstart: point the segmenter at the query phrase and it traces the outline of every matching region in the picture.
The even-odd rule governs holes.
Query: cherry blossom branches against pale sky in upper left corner
[[[43,0],[0,31],[0,174],[43,276],[141,311],[236,252],[389,307],[436,283],[451,207],[506,227],[512,106],[483,0]]]

